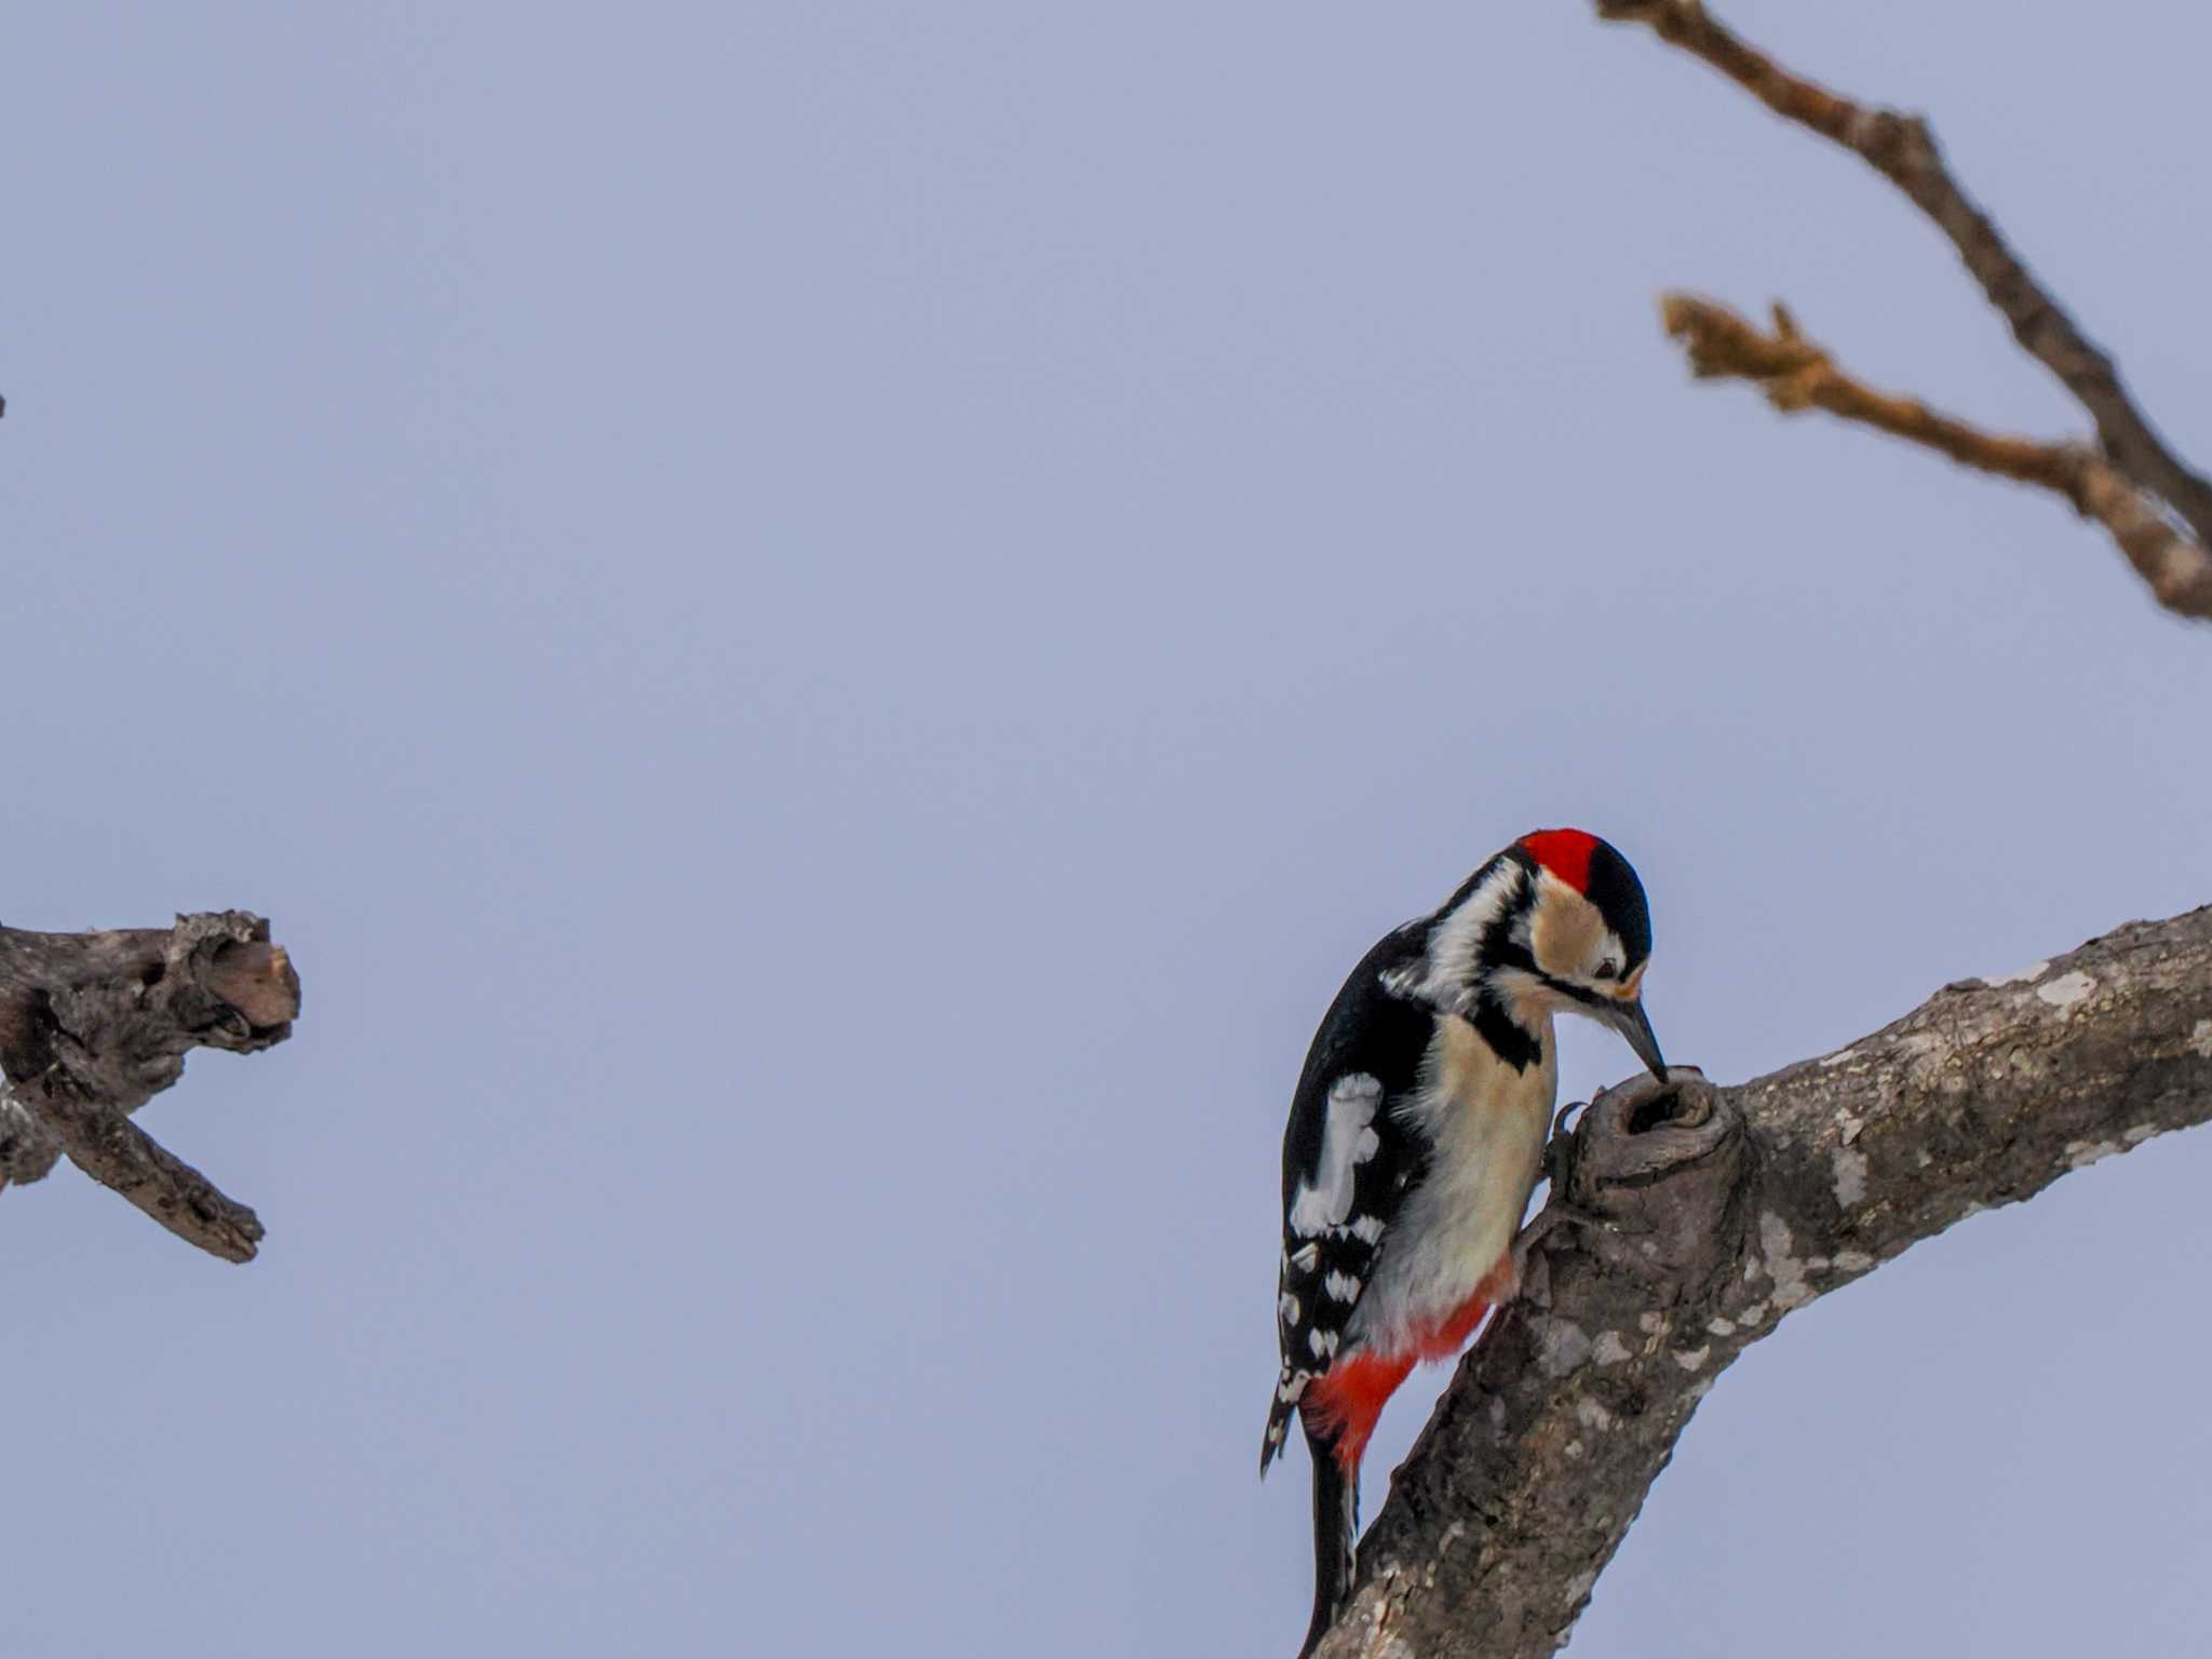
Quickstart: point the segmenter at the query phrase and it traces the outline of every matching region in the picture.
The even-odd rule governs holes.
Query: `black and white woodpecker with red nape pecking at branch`
[[[1314,1619],[1352,1595],[1360,1458],[1418,1360],[1460,1352],[1520,1290],[1520,1237],[1557,1093],[1553,1018],[1628,1040],[1666,1082],[1644,1013],[1644,883],[1584,830],[1535,830],[1336,993],[1283,1130],[1283,1367],[1267,1473],[1296,1413],[1314,1464]]]

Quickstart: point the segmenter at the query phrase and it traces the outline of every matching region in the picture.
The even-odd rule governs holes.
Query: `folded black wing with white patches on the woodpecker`
[[[1420,958],[1422,929],[1407,922],[1352,971],[1292,1097],[1276,1281],[1283,1369],[1259,1453],[1263,1475],[1307,1385],[1336,1363],[1391,1219],[1427,1170],[1425,1137],[1394,1108],[1420,1086],[1436,1015],[1385,989],[1391,969]]]

